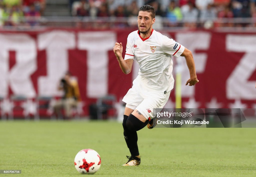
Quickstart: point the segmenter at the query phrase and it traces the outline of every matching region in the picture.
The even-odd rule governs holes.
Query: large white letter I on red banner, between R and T
[[[38,79],[38,93],[43,96],[59,95],[57,86],[69,69],[68,49],[76,46],[73,32],[54,30],[38,36],[39,50],[46,49],[47,76]]]

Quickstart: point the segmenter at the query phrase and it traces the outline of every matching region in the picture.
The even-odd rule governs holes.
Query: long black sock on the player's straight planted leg
[[[123,119],[124,139],[127,144],[127,147],[130,150],[131,156],[138,156],[140,154],[139,154],[138,145],[137,145],[137,141],[138,141],[137,132],[127,129],[126,127],[127,119],[128,119],[128,116],[124,115],[124,119]]]

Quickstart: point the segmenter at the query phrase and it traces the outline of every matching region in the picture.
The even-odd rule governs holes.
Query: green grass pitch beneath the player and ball
[[[144,128],[141,165],[127,161],[122,124],[113,121],[0,121],[0,170],[7,176],[81,176],[74,157],[96,150],[94,176],[256,176],[256,128]],[[0,174],[0,176],[6,176]]]

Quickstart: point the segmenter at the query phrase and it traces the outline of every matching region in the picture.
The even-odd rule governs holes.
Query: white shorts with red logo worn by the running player
[[[145,90],[140,84],[136,79],[133,81],[133,86],[124,96],[123,102],[126,103],[127,108],[137,109],[146,119],[151,120],[156,116],[154,109],[162,109],[168,101],[170,91],[163,93]]]

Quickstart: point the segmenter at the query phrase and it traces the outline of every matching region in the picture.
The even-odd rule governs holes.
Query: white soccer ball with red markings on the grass
[[[77,171],[82,174],[94,174],[100,169],[100,155],[92,149],[79,151],[74,161]]]

